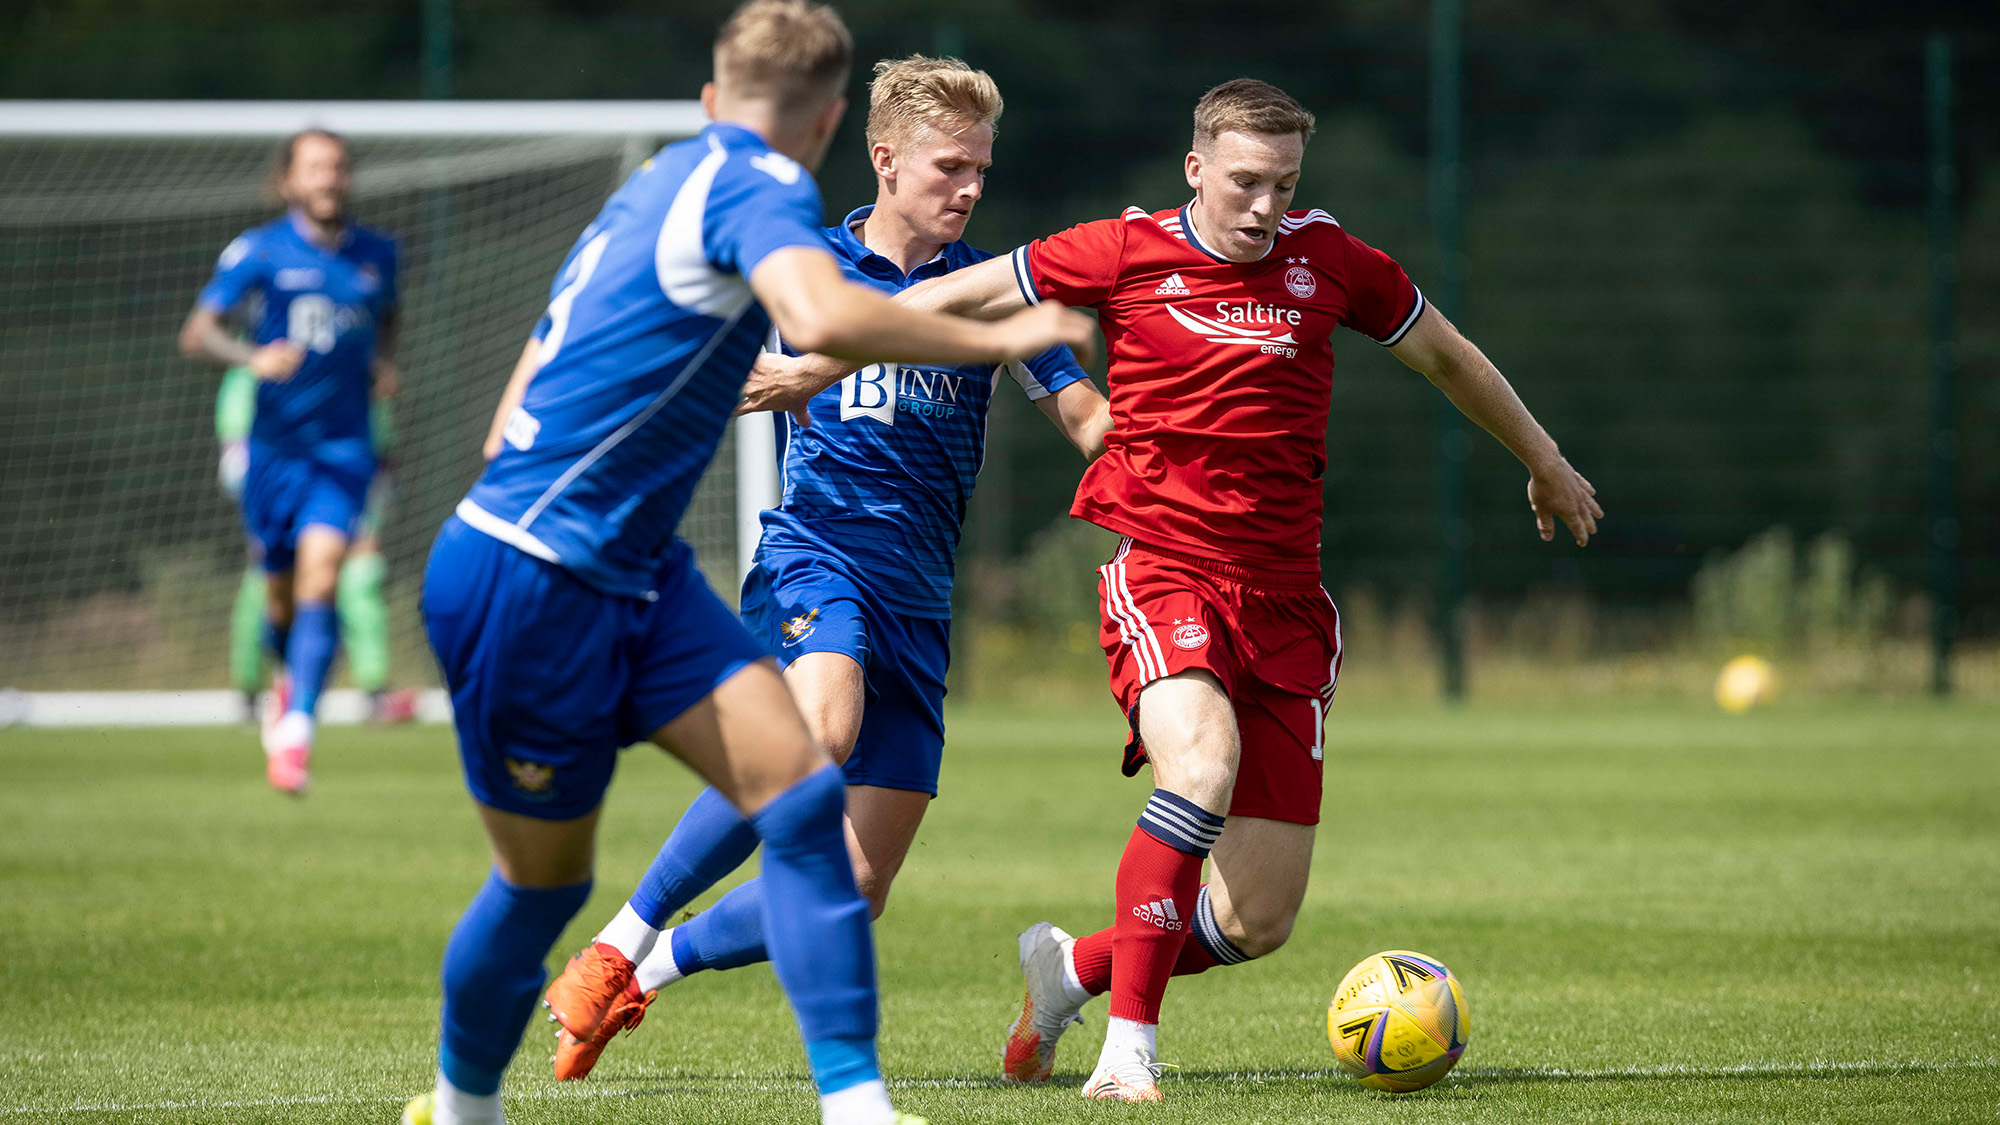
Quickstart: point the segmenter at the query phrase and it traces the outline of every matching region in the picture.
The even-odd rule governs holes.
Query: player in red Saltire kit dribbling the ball
[[[1118,865],[1114,923],[1020,935],[1016,1081],[1046,1079],[1064,1027],[1110,991],[1082,1093],[1158,1101],[1168,979],[1262,957],[1292,931],[1340,681],[1340,615],[1320,587],[1334,328],[1386,344],[1528,466],[1544,540],[1560,518],[1584,544],[1604,514],[1388,254],[1324,210],[1290,210],[1312,124],[1276,86],[1224,82],[1194,108],[1186,206],[1130,208],[902,294],[972,316],[1094,306],[1110,352],[1106,452],[1070,514],[1124,536],[1098,569],[1102,643],[1132,725],[1126,775],[1150,763],[1154,793]],[[770,364],[750,402],[796,404],[834,372],[818,362]]]

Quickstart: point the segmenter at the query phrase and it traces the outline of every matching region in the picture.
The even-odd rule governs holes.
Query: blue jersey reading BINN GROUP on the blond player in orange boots
[[[842,270],[860,284],[898,292],[992,258],[952,242],[904,276],[854,234],[870,210],[826,230]],[[1068,348],[1002,366],[1030,400],[1088,378]],[[894,613],[952,617],[952,556],[986,458],[998,370],[874,364],[814,396],[810,428],[786,416],[784,502],[764,512],[758,550],[830,550]]]

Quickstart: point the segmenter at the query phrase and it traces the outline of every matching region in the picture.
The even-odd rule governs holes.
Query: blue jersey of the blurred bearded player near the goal
[[[258,346],[290,340],[306,352],[284,382],[260,380],[250,440],[294,456],[374,464],[368,404],[376,326],[396,304],[396,242],[350,226],[338,246],[282,214],[236,236],[202,286],[202,308],[242,310]]]

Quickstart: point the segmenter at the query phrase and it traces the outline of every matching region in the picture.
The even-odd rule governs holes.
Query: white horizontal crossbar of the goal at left
[[[0,100],[0,136],[694,136],[700,102],[34,102]]]

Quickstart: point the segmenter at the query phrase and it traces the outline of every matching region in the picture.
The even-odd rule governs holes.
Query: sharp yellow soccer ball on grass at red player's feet
[[[1458,1065],[1472,1017],[1458,977],[1442,961],[1390,949],[1340,979],[1326,1005],[1326,1039],[1362,1085],[1410,1093]]]

